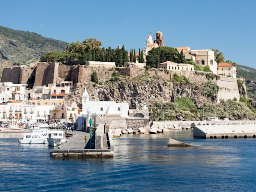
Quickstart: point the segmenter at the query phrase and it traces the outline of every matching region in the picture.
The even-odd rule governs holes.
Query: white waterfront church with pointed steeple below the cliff
[[[99,116],[128,117],[128,103],[116,103],[115,101],[90,101],[87,89],[84,89],[82,96],[82,112],[78,117],[77,129],[82,130],[82,124],[89,125],[92,114]]]

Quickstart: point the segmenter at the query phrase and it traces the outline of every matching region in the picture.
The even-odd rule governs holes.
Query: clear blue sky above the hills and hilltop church
[[[256,68],[254,0],[1,0],[0,25],[102,47],[144,48],[163,32],[165,46],[215,48],[226,60]]]

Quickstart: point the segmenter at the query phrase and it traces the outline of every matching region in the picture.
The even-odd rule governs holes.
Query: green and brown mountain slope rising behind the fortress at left
[[[16,31],[0,26],[0,76],[3,68],[29,64],[51,51],[63,51],[68,43],[45,38],[29,31]]]

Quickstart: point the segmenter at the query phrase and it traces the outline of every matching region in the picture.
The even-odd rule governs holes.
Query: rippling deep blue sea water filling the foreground
[[[192,147],[168,147],[169,138]],[[193,131],[113,138],[112,158],[53,159],[46,144],[0,138],[1,192],[254,192],[256,139]]]

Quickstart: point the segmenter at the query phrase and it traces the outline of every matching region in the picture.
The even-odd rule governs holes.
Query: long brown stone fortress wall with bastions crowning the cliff
[[[58,63],[38,63],[36,67],[29,66],[17,66],[12,68],[3,69],[3,75],[1,82],[13,82],[13,83],[26,83],[28,80],[35,76],[34,85],[48,85],[48,83],[57,83],[60,81],[73,81],[76,83],[91,83],[91,76],[93,71],[96,71],[99,82],[105,82],[110,79],[112,73],[118,70],[120,75],[129,76],[134,78],[136,76],[141,76],[144,74],[157,75],[162,79],[170,81],[175,72],[159,69],[149,69],[139,68],[136,66],[131,67],[104,67],[104,66],[65,66],[59,65]],[[177,72],[176,72],[177,73]],[[197,74],[198,73],[198,74]],[[179,75],[184,75],[191,82],[204,83],[207,82],[205,74],[207,72],[196,72],[196,71],[179,71]],[[213,79],[214,82],[220,87],[218,92],[218,102],[221,99],[234,99],[237,98],[239,101],[240,94],[237,86],[237,79],[220,76],[219,80]],[[244,85],[245,87],[245,85]]]

